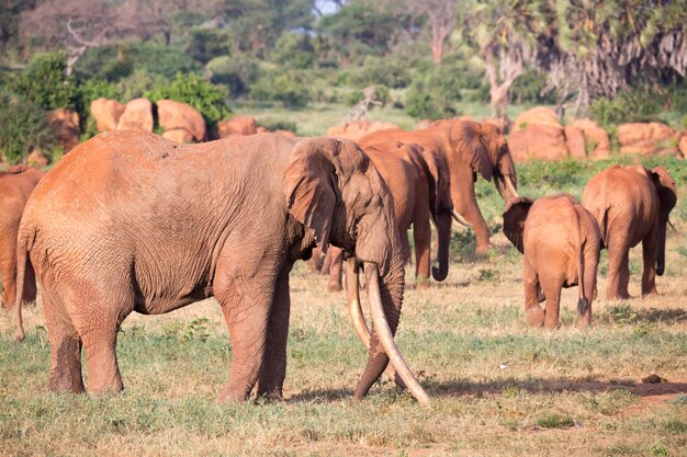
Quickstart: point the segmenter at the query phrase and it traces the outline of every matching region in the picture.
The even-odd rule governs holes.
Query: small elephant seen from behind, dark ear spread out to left
[[[516,197],[504,209],[504,233],[525,254],[525,313],[530,325],[559,327],[562,287],[579,287],[579,325],[592,323],[600,233],[572,195]],[[539,306],[540,290],[547,300]]]

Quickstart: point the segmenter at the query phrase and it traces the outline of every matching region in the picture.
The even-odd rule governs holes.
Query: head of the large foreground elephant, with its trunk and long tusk
[[[405,269],[391,193],[370,158],[352,141],[305,139],[291,153],[283,184],[289,213],[308,229],[323,252],[333,243],[364,267],[374,327],[356,398],[368,392],[391,358],[413,395],[428,402],[393,339]]]

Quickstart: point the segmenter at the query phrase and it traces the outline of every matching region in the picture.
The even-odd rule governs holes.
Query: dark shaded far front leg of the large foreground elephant
[[[258,397],[283,399],[286,377],[286,343],[289,340],[289,316],[291,296],[289,273],[292,264],[285,265],[279,274],[274,300],[269,317],[264,359],[258,376]]]

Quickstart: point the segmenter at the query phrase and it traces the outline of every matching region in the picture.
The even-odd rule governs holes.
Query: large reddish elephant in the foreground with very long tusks
[[[428,402],[393,339],[404,263],[391,195],[353,142],[260,134],[181,145],[108,132],[79,145],[36,187],[18,240],[42,286],[50,390],[85,390],[81,344],[89,392],[121,390],[115,344],[126,316],[214,295],[233,352],[219,400],[241,401],[256,384],[258,396],[280,398],[289,273],[315,243],[364,265],[374,330],[354,397],[391,358]]]

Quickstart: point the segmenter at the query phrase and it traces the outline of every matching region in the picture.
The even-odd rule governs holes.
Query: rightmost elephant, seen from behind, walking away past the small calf
[[[656,275],[665,269],[665,233],[677,203],[675,180],[662,167],[611,165],[585,186],[582,204],[589,209],[608,249],[608,299],[630,298],[630,248],[642,242],[642,295],[656,294]]]

